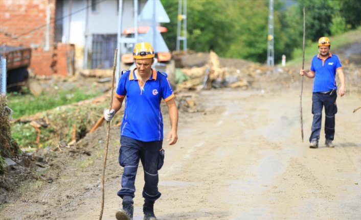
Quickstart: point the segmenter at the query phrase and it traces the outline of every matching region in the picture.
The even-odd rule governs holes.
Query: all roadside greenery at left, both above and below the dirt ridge
[[[47,119],[47,127],[40,128],[38,138],[37,130],[29,123],[11,124],[11,136],[22,150],[32,151],[36,148],[56,146],[59,142],[69,143],[73,138],[79,139],[95,124],[101,116],[106,103],[72,106],[70,104],[92,99],[102,94],[97,89],[74,87],[69,90],[58,90],[54,94],[43,92],[39,96],[27,94],[9,94],[9,107],[14,111],[13,117],[32,115],[43,112],[39,119]],[[69,105],[66,108],[56,107]],[[46,111],[49,110],[49,111]],[[46,112],[44,112],[46,111]]]

